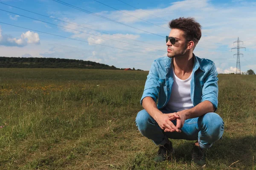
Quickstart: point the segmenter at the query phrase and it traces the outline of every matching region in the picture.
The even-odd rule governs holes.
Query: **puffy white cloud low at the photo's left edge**
[[[0,28],[0,45],[23,47],[28,44],[40,44],[38,33],[27,31],[22,33],[20,38],[13,38],[10,35],[2,34],[2,29]]]

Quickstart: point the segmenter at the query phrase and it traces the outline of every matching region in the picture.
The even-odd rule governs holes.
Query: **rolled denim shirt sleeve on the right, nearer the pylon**
[[[218,108],[218,73],[215,64],[209,69],[207,77],[204,79],[204,86],[202,89],[202,102],[209,101],[214,106],[215,110]]]

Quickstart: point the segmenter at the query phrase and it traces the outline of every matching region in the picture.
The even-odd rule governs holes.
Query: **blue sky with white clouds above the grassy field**
[[[240,58],[241,71],[256,71],[256,2],[253,0],[179,0],[169,3],[166,0],[121,0],[124,3],[119,0],[97,0],[100,3],[94,0],[62,1],[134,28],[53,0],[0,0],[8,5],[51,17],[0,3],[0,9],[5,10],[0,10],[0,56],[83,59],[118,68],[149,70],[154,59],[167,54],[165,36],[170,31],[168,22],[178,17],[195,17],[202,26],[202,37],[195,48],[195,55],[213,60],[218,73],[235,72],[236,57],[233,54],[237,51],[231,52],[230,48],[236,47],[233,42],[239,37],[244,42],[240,46],[246,47],[246,51],[240,50],[244,54]]]

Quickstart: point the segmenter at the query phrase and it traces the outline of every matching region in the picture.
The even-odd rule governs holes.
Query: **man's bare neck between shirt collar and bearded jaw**
[[[191,73],[194,66],[193,52],[184,54],[180,57],[173,58],[173,69],[175,74],[184,75]]]

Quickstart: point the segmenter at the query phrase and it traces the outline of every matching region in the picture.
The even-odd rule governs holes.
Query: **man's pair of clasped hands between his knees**
[[[181,132],[181,128],[186,120],[186,111],[179,111],[175,113],[162,113],[156,117],[156,122],[164,132]],[[172,123],[176,120],[176,126]]]

